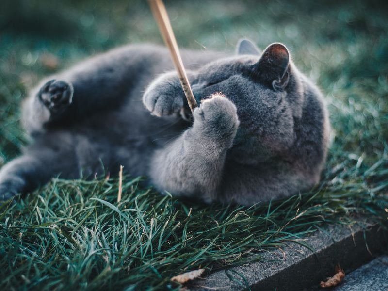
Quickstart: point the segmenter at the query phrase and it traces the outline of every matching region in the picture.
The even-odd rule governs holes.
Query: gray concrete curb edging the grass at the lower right
[[[321,280],[334,275],[339,263],[350,272],[372,260],[387,248],[388,233],[378,224],[359,220],[353,226],[332,225],[306,238],[308,247],[291,242],[280,249],[264,253],[261,262],[250,263],[197,279],[190,290],[302,290],[319,286]],[[283,253],[284,252],[284,253]],[[236,274],[242,275],[242,277]],[[318,288],[317,288],[318,289]]]

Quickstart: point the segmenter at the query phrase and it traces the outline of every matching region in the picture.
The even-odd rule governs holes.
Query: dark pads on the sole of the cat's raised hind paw
[[[56,112],[71,104],[73,86],[65,81],[50,80],[40,88],[40,101],[52,112]]]

